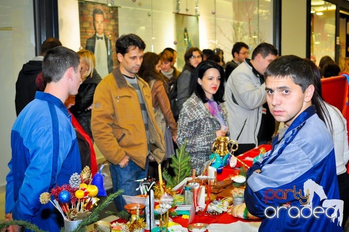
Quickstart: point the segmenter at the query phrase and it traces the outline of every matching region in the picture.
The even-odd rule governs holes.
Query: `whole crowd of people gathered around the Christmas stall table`
[[[99,16],[94,15],[96,20]],[[91,40],[89,46],[97,43]],[[320,84],[321,76],[335,69],[333,60],[320,61],[317,68],[297,56],[278,57],[269,43],[251,50],[237,42],[227,63],[221,49],[188,48],[180,72],[174,49],[144,52],[142,38],[124,34],[115,44],[118,65],[100,76],[91,49],[74,52],[54,38],[42,48],[42,71],[36,67],[30,74],[36,79],[32,93],[20,96],[26,89],[20,83],[24,70],[16,83],[22,87],[16,88],[7,220],[29,220],[44,230],[62,226],[57,215],[45,218],[44,210],[55,209],[42,206],[38,196],[68,182],[85,165],[93,166],[95,173],[93,143],[110,163],[113,191],[124,189],[125,195],[135,196],[140,194],[135,181],[157,177],[158,164],[170,169],[177,147],[186,143],[190,165],[201,175],[215,138],[229,136],[238,142],[234,155],[272,144],[249,169],[245,192],[248,210],[264,218],[263,230],[305,226],[306,231],[340,231],[344,226],[349,209],[346,120],[322,99]],[[279,130],[276,122],[283,125]],[[292,186],[303,189],[307,180],[321,186],[326,199],[344,200],[341,225],[324,216],[305,223],[286,218],[287,213],[272,219],[264,215],[268,205],[301,208],[301,202],[288,195],[287,200],[275,198],[266,204],[265,194]],[[31,196],[24,194],[28,189]],[[323,197],[312,199],[313,204],[325,204]],[[124,209],[121,196],[114,202],[118,211]]]

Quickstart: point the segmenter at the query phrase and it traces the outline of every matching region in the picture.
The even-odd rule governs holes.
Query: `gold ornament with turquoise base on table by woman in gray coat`
[[[228,150],[229,144],[231,144],[231,152]],[[235,148],[234,145],[236,145]],[[235,159],[234,151],[237,149],[238,143],[236,141],[230,140],[227,136],[217,137],[216,141],[212,145],[210,165],[217,169],[217,173],[221,173],[222,168],[230,163],[230,159]]]

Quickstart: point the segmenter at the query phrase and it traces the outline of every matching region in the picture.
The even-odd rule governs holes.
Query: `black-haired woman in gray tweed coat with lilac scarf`
[[[179,114],[177,144],[181,146],[188,141],[186,150],[191,156],[191,166],[199,175],[209,161],[216,137],[227,135],[226,113],[221,104],[223,79],[222,66],[211,61],[200,63],[190,83],[192,95]]]

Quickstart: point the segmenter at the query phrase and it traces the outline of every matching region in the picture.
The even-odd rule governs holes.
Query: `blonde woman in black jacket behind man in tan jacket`
[[[95,69],[95,55],[89,50],[78,51],[81,65],[81,80],[75,105],[70,108],[84,131],[91,137],[91,105],[97,84],[102,80]]]

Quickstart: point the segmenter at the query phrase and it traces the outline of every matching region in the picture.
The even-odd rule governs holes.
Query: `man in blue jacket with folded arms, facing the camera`
[[[247,173],[245,202],[259,231],[342,231],[333,139],[311,67],[281,56],[265,71],[271,114],[286,127]]]

